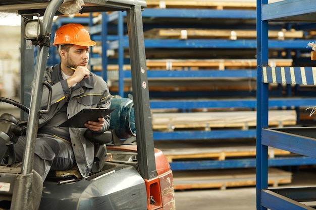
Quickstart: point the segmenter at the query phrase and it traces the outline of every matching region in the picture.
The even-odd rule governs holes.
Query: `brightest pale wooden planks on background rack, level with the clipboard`
[[[152,113],[153,129],[241,127],[256,126],[256,111]],[[295,125],[295,110],[269,111],[269,125]]]

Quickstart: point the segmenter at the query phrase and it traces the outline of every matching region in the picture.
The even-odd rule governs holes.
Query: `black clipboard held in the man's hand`
[[[80,112],[60,124],[58,127],[85,127],[84,123],[86,123],[87,121],[97,122],[97,118],[105,117],[113,110],[114,109],[107,108],[82,109]]]

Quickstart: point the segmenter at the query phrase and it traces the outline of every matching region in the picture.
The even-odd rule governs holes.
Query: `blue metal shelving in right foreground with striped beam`
[[[313,0],[257,0],[256,209],[315,209],[316,188],[269,188],[268,147],[316,158],[315,127],[269,128],[269,84],[316,85],[315,67],[267,67],[270,22],[315,22]],[[308,41],[304,44],[307,46]]]

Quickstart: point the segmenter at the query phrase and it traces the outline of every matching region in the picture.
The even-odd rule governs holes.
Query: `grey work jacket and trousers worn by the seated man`
[[[52,96],[50,111],[42,114],[39,119],[34,169],[44,180],[50,168],[66,170],[76,164],[82,177],[85,177],[89,174],[94,159],[94,145],[84,136],[88,128],[61,128],[58,125],[84,108],[110,108],[108,85],[101,77],[91,73],[71,90],[67,80],[62,78],[60,64],[46,68],[44,77],[51,85]],[[47,100],[48,88],[44,87],[41,102],[43,108],[47,105]],[[62,110],[67,114],[60,114]],[[104,132],[110,126],[110,116],[104,119],[104,126],[98,132]],[[23,139],[19,139],[15,146],[16,153],[19,153],[19,150],[23,153],[23,144]],[[17,159],[20,158],[22,156],[17,155]]]

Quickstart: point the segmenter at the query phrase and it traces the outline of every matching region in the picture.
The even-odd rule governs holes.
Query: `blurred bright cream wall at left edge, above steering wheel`
[[[0,96],[14,98],[20,89],[20,26],[0,26]]]

